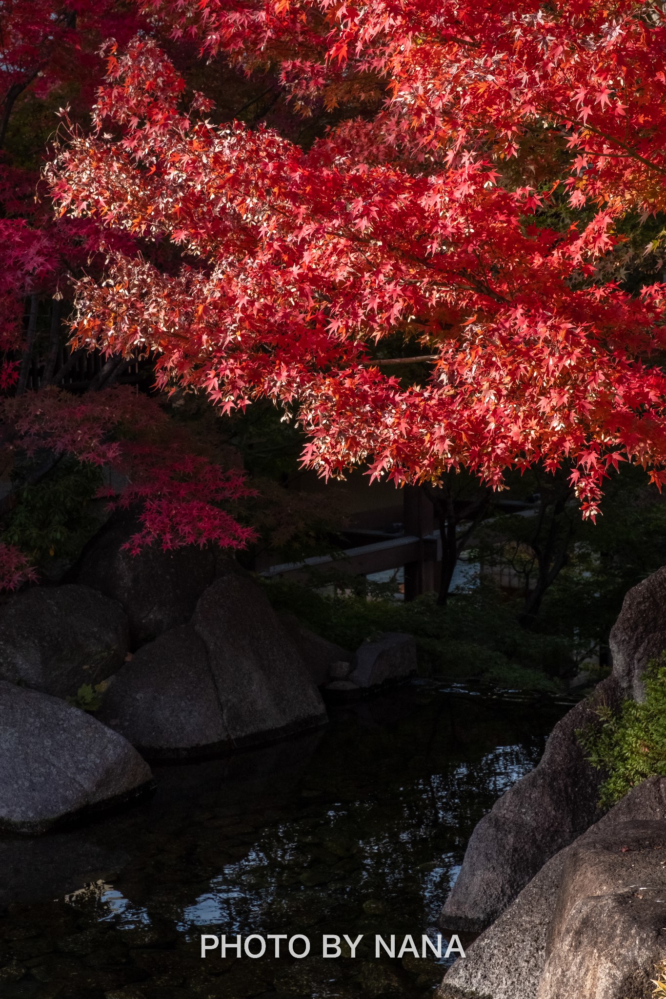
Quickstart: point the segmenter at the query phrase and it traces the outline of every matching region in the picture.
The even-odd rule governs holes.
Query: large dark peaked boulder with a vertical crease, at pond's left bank
[[[231,571],[206,590],[191,624],[125,664],[100,717],[151,759],[210,756],[327,720],[263,590]]]

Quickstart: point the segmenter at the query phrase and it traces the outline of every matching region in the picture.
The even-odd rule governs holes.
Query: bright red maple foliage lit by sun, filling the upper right
[[[666,479],[663,286],[629,294],[602,267],[619,221],[664,208],[659,9],[143,6],[204,54],[268,66],[302,113],[350,110],[304,150],[214,124],[199,95],[186,108],[151,40],[113,47],[95,130],[61,148],[53,195],[109,234],[170,240],[182,265],[112,253],[105,281],[78,283],[80,343],[149,351],[162,386],[222,408],[280,400],[327,475],[369,461],[436,483],[465,465],[498,486],[507,467],[566,458],[588,515],[619,462]],[[535,133],[559,164],[547,186],[511,173]],[[546,224],[556,205],[565,226]],[[419,384],[372,363],[396,336],[435,358]]]

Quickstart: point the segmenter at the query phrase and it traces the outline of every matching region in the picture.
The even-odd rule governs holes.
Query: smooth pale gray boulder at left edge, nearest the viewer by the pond
[[[64,700],[0,681],[0,830],[45,832],[152,782],[130,743]]]

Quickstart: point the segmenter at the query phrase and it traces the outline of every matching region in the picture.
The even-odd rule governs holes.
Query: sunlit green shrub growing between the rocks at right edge
[[[578,732],[588,758],[608,776],[599,804],[610,808],[647,777],[666,776],[666,652],[647,667],[645,700],[598,708],[598,723]]]

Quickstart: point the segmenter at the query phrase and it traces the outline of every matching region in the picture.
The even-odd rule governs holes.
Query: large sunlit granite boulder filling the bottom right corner
[[[666,778],[651,777],[638,787],[635,787],[622,801],[618,802],[614,808],[604,815],[595,825],[591,826],[574,844],[560,850],[555,856],[548,860],[538,874],[523,888],[515,901],[507,908],[499,918],[486,929],[472,944],[465,948],[466,957],[459,958],[450,970],[445,974],[443,982],[436,993],[436,999],[550,999],[550,993],[540,992],[539,989],[550,988],[549,982],[555,982],[556,961],[558,960],[556,951],[560,941],[565,944],[565,937],[562,935],[564,927],[572,926],[577,918],[576,905],[571,907],[573,895],[568,885],[572,884],[572,872],[581,870],[580,856],[581,850],[585,851],[588,844],[594,844],[598,839],[599,846],[592,845],[592,852],[603,854],[611,846],[610,853],[614,862],[626,858],[624,875],[628,874],[631,879],[631,865],[636,859],[636,845],[641,845],[641,838],[644,837],[645,829],[641,823],[659,823],[659,827],[666,832]],[[650,834],[653,834],[651,830]],[[648,836],[649,838],[649,836]],[[650,840],[652,846],[658,845],[659,839],[663,839],[663,834],[657,835]],[[638,843],[637,843],[638,840]],[[628,847],[624,850],[623,847]],[[633,849],[632,849],[633,847]],[[662,877],[660,874],[661,854],[652,851],[654,861],[653,874]],[[569,861],[571,861],[569,863]],[[622,865],[620,864],[620,870]],[[624,876],[623,875],[623,876]],[[645,876],[642,869],[640,877]],[[652,875],[651,875],[652,876]],[[625,881],[604,882],[600,879],[596,888],[600,890],[600,897],[603,899],[604,892],[610,887],[622,885]],[[578,884],[582,890],[584,883]],[[648,886],[646,886],[648,887]],[[560,896],[560,890],[562,894]],[[614,894],[614,892],[611,892]],[[622,892],[620,892],[622,894]],[[581,902],[589,896],[581,895]],[[626,896],[625,896],[626,897]],[[662,890],[662,898],[666,897]],[[642,909],[642,901],[636,899],[636,914],[639,920],[643,915],[647,915],[646,925],[654,925],[652,917]],[[577,903],[576,903],[577,904]],[[584,905],[588,904],[584,902]],[[633,904],[633,903],[631,903]],[[600,918],[611,914],[612,906],[607,902],[601,902],[598,910]],[[561,920],[561,914],[573,912],[573,920],[568,923]],[[663,925],[664,904],[661,906],[661,919]],[[582,921],[581,921],[582,922]],[[445,925],[445,924],[444,924]],[[577,923],[577,932],[582,933],[584,926]],[[592,924],[590,924],[592,925]],[[609,924],[609,936],[614,933],[616,924]],[[635,960],[635,950],[633,942],[640,937],[640,927],[623,924],[623,932],[628,932],[629,936],[621,943],[615,938],[615,949],[612,959],[615,966],[622,973],[619,979],[626,983],[627,989],[631,986],[631,978],[635,980],[635,968],[631,967]],[[568,930],[564,931],[569,933]],[[633,939],[632,939],[633,934]],[[575,934],[572,934],[572,936]],[[649,935],[649,934],[648,934]],[[580,939],[584,939],[583,936]],[[588,938],[589,939],[589,938]],[[666,950],[666,941],[662,942],[660,957]],[[651,959],[648,950],[647,961]],[[588,950],[589,956],[589,950]],[[562,953],[562,962],[566,958],[569,960],[574,956],[573,951]],[[595,958],[592,959],[592,964]],[[550,969],[546,971],[546,962],[549,962]],[[582,963],[581,963],[582,968]],[[603,992],[577,990],[578,976],[573,972],[570,964],[562,963],[560,966],[560,979],[563,985],[568,986],[568,991],[561,993],[562,999],[605,999]],[[622,978],[622,974],[628,973],[628,977]],[[585,982],[585,978],[580,979]],[[588,980],[589,981],[589,980]],[[609,981],[608,978],[605,979]],[[553,993],[560,995],[560,993]],[[609,997],[616,999],[622,992],[609,992]],[[647,991],[642,993],[626,991],[627,999],[645,999],[650,995]]]

